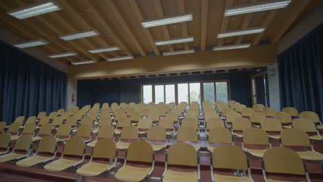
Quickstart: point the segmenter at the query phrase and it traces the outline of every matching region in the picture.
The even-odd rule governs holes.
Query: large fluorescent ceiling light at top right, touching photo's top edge
[[[224,12],[224,17],[229,17],[237,14],[245,14],[250,12],[260,12],[266,10],[286,8],[291,0],[272,0],[253,3],[247,6],[233,6]]]

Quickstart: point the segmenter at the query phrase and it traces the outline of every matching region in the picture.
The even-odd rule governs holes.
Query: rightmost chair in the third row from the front
[[[309,139],[321,141],[323,136],[317,131],[317,128],[313,121],[306,118],[299,118],[293,120],[293,128],[302,130],[309,134]]]

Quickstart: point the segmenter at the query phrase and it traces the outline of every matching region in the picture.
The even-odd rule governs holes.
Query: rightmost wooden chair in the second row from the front
[[[309,136],[307,136],[306,132],[297,129],[287,128],[282,130],[281,134],[282,145],[288,147],[306,147],[311,148],[311,150],[307,151],[297,151],[296,153],[300,155],[302,159],[306,159],[309,161],[322,161],[323,154],[316,152],[313,148],[311,140]]]

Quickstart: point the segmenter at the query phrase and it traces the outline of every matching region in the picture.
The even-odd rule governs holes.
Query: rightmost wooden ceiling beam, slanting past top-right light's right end
[[[277,30],[276,34],[271,38],[271,43],[277,43],[280,38],[286,33],[288,28],[291,26],[291,24],[297,19],[297,17],[300,16],[300,14],[303,12],[306,5],[309,3],[309,0],[302,0],[302,1],[292,1],[289,6],[293,6],[293,9],[291,10],[290,14],[286,14],[282,25]]]

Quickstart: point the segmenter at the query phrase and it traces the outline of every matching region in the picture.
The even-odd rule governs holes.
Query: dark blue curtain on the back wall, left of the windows
[[[118,80],[79,80],[77,81],[77,105],[94,103],[120,103]]]

